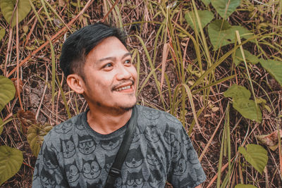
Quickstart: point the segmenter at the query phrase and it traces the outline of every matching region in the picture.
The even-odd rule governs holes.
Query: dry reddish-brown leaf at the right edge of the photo
[[[280,137],[282,137],[282,130],[279,130]],[[277,137],[278,131],[274,131],[271,134],[262,134],[257,135],[257,139],[260,143],[268,146],[272,151],[275,151],[278,148],[278,137]]]

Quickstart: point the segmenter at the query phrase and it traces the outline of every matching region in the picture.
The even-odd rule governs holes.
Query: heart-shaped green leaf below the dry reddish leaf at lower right
[[[269,159],[267,151],[262,146],[247,144],[247,151],[242,146],[239,147],[238,151],[244,156],[248,163],[262,174]]]

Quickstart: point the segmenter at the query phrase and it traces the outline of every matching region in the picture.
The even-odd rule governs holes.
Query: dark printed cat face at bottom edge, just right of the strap
[[[142,169],[138,173],[130,173],[128,172],[128,176],[126,177],[125,186],[126,187],[136,187],[140,188],[144,186],[144,183],[146,182]]]

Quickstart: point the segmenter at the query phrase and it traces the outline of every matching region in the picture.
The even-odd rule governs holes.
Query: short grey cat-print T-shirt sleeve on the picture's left
[[[32,188],[68,187],[56,156],[56,149],[43,142],[35,163]]]

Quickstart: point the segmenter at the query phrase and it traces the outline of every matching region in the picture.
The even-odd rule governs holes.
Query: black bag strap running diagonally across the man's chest
[[[128,127],[126,128],[125,135],[123,137],[123,142],[121,142],[121,147],[118,149],[118,153],[116,153],[115,161],[113,165],[111,165],[108,177],[106,178],[106,184],[104,188],[114,187],[114,182],[116,182],[116,178],[121,175],[121,166],[123,165],[125,156],[128,153],[131,140],[133,139],[133,133],[135,132],[135,127],[137,122],[136,108],[137,108],[136,106],[133,107],[133,112],[128,122]]]

